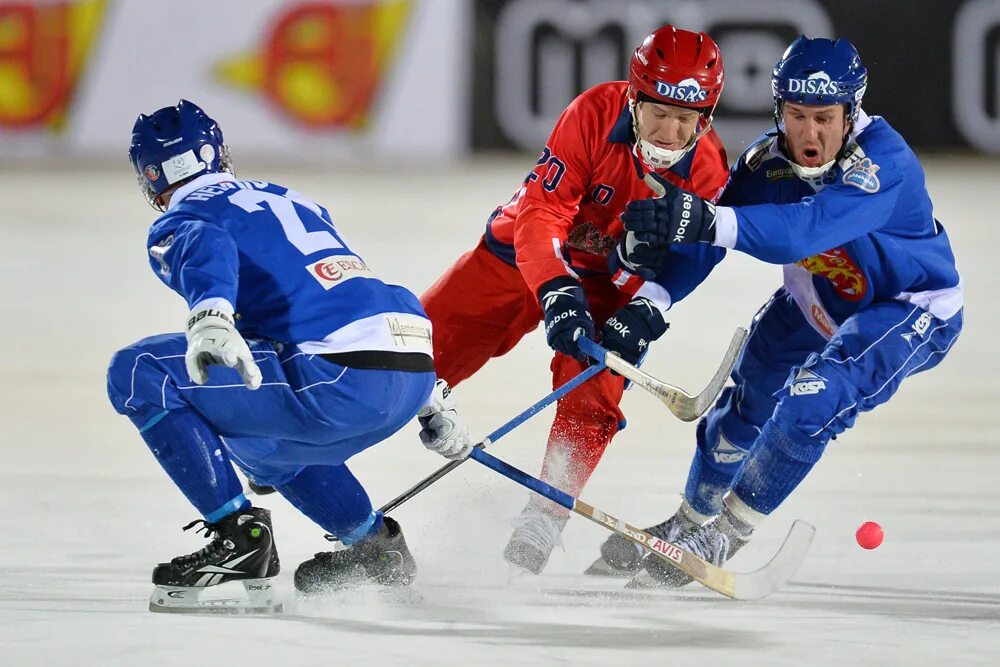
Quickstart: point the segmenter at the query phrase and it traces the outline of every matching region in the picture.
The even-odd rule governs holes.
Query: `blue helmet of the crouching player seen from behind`
[[[139,114],[128,156],[143,194],[160,211],[159,196],[181,181],[198,174],[232,173],[219,124],[187,100],[149,116]]]

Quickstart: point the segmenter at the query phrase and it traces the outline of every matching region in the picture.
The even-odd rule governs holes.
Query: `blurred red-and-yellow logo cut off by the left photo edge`
[[[0,3],[0,126],[63,125],[106,4]]]

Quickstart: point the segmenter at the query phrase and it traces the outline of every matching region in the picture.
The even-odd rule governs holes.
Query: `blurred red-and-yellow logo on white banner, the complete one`
[[[361,128],[412,4],[293,5],[270,21],[257,53],[220,63],[217,74],[236,87],[262,92],[307,127]]]

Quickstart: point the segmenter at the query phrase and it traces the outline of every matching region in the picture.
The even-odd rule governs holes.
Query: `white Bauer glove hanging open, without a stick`
[[[233,326],[233,314],[216,308],[192,310],[188,315],[188,350],[184,356],[188,375],[195,384],[208,380],[212,364],[235,368],[249,389],[260,387],[260,369],[250,347]]]

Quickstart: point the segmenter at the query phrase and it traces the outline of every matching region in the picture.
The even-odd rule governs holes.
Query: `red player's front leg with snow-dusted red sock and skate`
[[[606,277],[584,279],[583,285],[598,326],[625,300]],[[553,387],[569,381],[584,368],[572,357],[556,353],[551,365]],[[570,495],[579,495],[611,439],[624,427],[625,417],[618,407],[623,391],[624,378],[600,373],[559,400],[545,446],[541,479]],[[568,520],[568,510],[532,494],[517,519],[504,558],[539,574]]]

